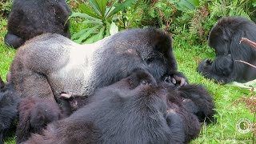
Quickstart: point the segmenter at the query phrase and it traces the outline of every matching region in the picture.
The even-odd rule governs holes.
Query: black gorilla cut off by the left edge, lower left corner
[[[0,78],[0,143],[10,130],[11,124],[18,115],[19,98],[10,84],[5,84]]]

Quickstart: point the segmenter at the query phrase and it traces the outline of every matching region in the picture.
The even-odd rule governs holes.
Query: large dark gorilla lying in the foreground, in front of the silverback
[[[69,118],[51,123],[42,135],[34,134],[24,143],[190,142],[199,134],[198,118],[169,88],[158,86],[145,70],[136,70],[130,77],[96,90],[89,104]],[[205,101],[203,95],[198,101]],[[210,110],[210,106],[203,108]]]

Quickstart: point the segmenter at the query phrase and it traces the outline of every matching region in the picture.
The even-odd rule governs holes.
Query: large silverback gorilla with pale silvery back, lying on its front
[[[46,45],[47,43],[47,45]],[[10,67],[10,82],[21,97],[89,96],[95,88],[148,70],[158,81],[166,74],[186,83],[168,34],[153,28],[123,30],[94,44],[78,45],[59,34],[43,34],[20,47]]]

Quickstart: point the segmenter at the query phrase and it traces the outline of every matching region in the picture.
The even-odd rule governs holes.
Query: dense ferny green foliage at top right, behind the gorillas
[[[250,0],[151,0],[139,1],[141,25],[157,26],[173,34],[186,34],[191,44],[205,44],[218,18],[242,16],[255,20],[255,1]],[[184,33],[185,32],[185,33]]]

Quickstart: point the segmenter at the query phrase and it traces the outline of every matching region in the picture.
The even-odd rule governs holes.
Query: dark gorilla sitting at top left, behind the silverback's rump
[[[70,9],[65,0],[14,0],[9,18],[7,45],[18,48],[34,36],[58,33],[70,38]]]

